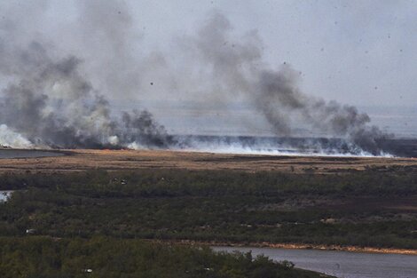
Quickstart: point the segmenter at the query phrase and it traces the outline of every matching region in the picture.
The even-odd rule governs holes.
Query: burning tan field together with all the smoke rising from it
[[[415,141],[395,139],[356,107],[302,91],[298,71],[286,62],[269,65],[256,32],[235,35],[221,12],[211,12],[199,28],[182,37],[173,50],[181,53],[177,60],[171,52],[138,56],[128,47],[134,32],[127,6],[94,3],[80,4],[76,11],[86,25],[102,32],[81,28],[83,40],[75,39],[72,50],[46,34],[20,32],[27,22],[13,9],[0,25],[0,146],[59,149],[65,154],[1,159],[0,171],[181,168],[321,173],[415,166],[413,159],[389,158],[415,157]],[[119,11],[116,17],[99,20],[114,9]],[[43,9],[31,12],[36,21],[32,24],[42,25]],[[114,27],[125,31],[116,36]],[[86,37],[98,38],[99,47],[95,41],[84,44]],[[115,45],[123,55],[108,57]],[[119,111],[112,106],[114,99],[153,94],[159,99],[202,98],[205,105],[223,107],[226,114],[233,113],[228,109],[232,101],[244,102],[262,116],[271,137],[177,135],[146,107]],[[255,124],[248,123],[246,129]],[[304,134],[299,134],[300,127]]]

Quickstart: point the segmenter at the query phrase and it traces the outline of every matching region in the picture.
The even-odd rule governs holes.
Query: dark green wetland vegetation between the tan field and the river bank
[[[417,248],[417,175],[239,171],[5,175],[0,235]],[[407,204],[409,203],[409,204]]]

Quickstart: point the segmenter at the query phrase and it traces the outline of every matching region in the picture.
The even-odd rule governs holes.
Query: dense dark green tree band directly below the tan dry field
[[[122,187],[121,187],[122,186]],[[28,187],[69,189],[85,195],[416,195],[417,171],[351,171],[342,174],[291,174],[277,171],[83,171],[79,173],[5,173],[0,190]]]

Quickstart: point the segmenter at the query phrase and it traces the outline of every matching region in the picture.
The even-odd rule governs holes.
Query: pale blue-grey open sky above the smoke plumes
[[[72,34],[94,28],[80,25],[76,2],[1,5],[17,14],[33,10],[33,18],[21,19],[22,29],[71,49]],[[120,6],[108,16],[130,13],[127,24],[135,39],[128,47],[135,52],[171,48],[175,38],[193,34],[216,9],[236,36],[258,32],[271,68],[287,62],[301,71],[306,93],[354,105],[417,104],[417,1],[121,1]],[[2,20],[10,16],[5,11],[0,10]],[[114,32],[125,31],[120,28]]]

